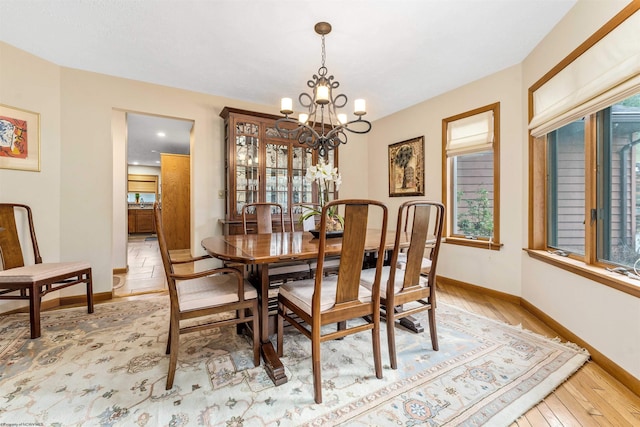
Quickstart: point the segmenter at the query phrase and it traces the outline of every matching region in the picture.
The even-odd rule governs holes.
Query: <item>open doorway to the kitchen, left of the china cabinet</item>
[[[153,204],[156,201],[161,204],[165,202],[161,157],[179,155],[189,158],[194,125],[192,120],[151,114],[126,112],[125,117],[127,268],[124,273],[114,274],[114,296],[166,290],[153,220]],[[185,180],[186,185],[190,185],[189,171]],[[155,187],[153,181],[156,182]],[[191,205],[188,197],[187,193],[187,207]],[[167,197],[167,203],[173,198]]]

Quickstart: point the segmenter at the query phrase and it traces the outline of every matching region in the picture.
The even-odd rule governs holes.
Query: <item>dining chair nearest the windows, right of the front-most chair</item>
[[[412,215],[407,211],[412,210]],[[380,285],[381,315],[387,322],[387,341],[391,368],[397,369],[395,346],[395,321],[421,311],[428,312],[431,346],[438,350],[436,331],[436,265],[442,240],[444,205],[432,201],[408,201],[398,209],[396,237],[391,254],[391,263],[382,270]],[[406,224],[410,221],[411,224]],[[404,266],[398,265],[403,251],[401,233],[410,230],[409,247]],[[426,249],[425,249],[426,248]],[[426,276],[421,274],[426,259],[429,263]],[[373,289],[377,271],[365,269],[364,286]],[[409,303],[417,303],[411,304]]]

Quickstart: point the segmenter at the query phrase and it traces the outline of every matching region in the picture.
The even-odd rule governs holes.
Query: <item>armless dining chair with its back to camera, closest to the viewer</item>
[[[339,207],[344,211],[344,235],[341,263],[337,275],[322,274],[326,259],[326,211]],[[380,357],[380,277],[383,259],[376,263],[376,273],[371,289],[360,285],[360,274],[365,256],[367,228],[381,231],[370,250],[383,251],[387,229],[387,207],[378,201],[361,199],[334,200],[326,204],[320,219],[318,268],[315,278],[295,280],[283,284],[278,294],[277,347],[283,355],[284,320],[311,340],[311,365],[313,370],[314,398],[322,403],[320,354],[321,343],[347,335],[371,331],[375,374],[382,378]],[[376,215],[377,214],[377,215]],[[357,322],[348,322],[357,319]],[[337,323],[339,326],[321,330],[323,326]],[[345,345],[345,352],[348,352]]]

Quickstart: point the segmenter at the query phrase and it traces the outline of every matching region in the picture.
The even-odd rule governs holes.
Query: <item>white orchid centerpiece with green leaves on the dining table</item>
[[[342,177],[338,173],[338,168],[332,168],[331,165],[324,162],[324,160],[318,160],[318,164],[309,166],[307,168],[307,174],[305,180],[310,183],[316,183],[318,186],[318,202],[319,208],[315,205],[304,206],[304,212],[300,215],[300,222],[303,222],[307,218],[315,215],[322,214],[322,208],[329,202],[329,194],[331,193],[331,184],[337,191],[342,183]],[[327,212],[327,229],[329,231],[342,230],[344,227],[344,218],[338,214],[337,207],[329,209]]]

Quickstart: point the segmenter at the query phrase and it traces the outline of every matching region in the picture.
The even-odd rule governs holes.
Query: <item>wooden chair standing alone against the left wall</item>
[[[26,217],[26,218],[25,218]],[[29,238],[24,248],[16,218],[26,220]],[[24,222],[20,222],[23,224]],[[25,265],[24,255],[31,246],[34,264]],[[0,203],[0,299],[29,300],[31,338],[41,335],[42,297],[69,286],[85,284],[87,312],[93,313],[93,285],[88,262],[42,262],[36,239],[33,214],[27,205]]]

